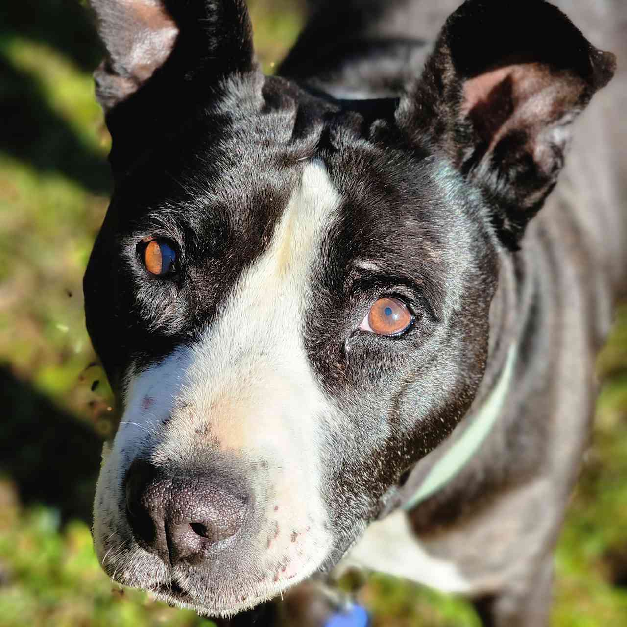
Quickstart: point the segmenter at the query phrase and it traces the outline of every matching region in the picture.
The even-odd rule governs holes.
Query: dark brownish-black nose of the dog
[[[126,508],[136,539],[172,566],[203,561],[245,519],[248,498],[225,485],[211,475],[169,474],[135,460],[126,477]]]

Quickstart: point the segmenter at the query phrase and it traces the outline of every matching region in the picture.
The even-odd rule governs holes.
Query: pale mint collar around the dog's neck
[[[487,401],[483,404],[470,423],[461,433],[460,438],[453,443],[448,451],[433,465],[428,475],[419,485],[418,490],[403,503],[405,511],[413,510],[416,505],[423,502],[435,492],[443,488],[446,483],[460,472],[463,466],[470,461],[483,441],[487,438],[492,427],[500,416],[505,398],[507,396],[514,365],[518,354],[518,344],[512,344],[507,354],[507,361],[496,386],[490,392]]]

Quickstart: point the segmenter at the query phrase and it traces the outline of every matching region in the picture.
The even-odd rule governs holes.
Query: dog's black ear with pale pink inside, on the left
[[[256,71],[245,0],[90,0],[107,56],[94,73],[114,174],[233,73]]]

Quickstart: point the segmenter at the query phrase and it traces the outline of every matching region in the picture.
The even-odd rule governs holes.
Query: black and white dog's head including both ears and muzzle
[[[113,579],[254,606],[337,563],[464,415],[499,254],[613,66],[550,5],[501,4],[453,14],[398,99],[337,102],[260,73],[243,0],[93,0],[116,185],[85,297],[124,409],[95,502]]]

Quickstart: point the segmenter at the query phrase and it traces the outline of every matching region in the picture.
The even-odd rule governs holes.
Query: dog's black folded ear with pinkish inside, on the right
[[[502,240],[516,248],[556,183],[573,120],[615,66],[543,0],[468,0],[396,120],[483,189]]]

